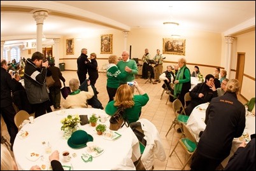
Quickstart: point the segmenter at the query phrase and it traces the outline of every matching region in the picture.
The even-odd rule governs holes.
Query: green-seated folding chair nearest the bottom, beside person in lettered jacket
[[[190,132],[190,130],[188,129],[188,127],[185,125],[185,123],[181,123],[181,128],[183,130],[183,135],[185,135],[184,138],[180,138],[180,140],[178,140],[177,144],[174,146],[173,151],[171,152],[171,154],[169,155],[169,157],[171,157],[171,155],[173,154],[173,152],[176,154],[176,156],[178,157],[178,160],[180,160],[180,162],[182,163],[183,167],[181,168],[181,170],[184,170],[184,168],[186,167],[188,161],[190,161],[190,159],[192,158],[194,152],[196,151],[197,148],[197,142],[196,142],[196,138],[194,137],[194,135]],[[181,161],[180,157],[178,156],[178,154],[176,153],[175,149],[178,146],[178,144],[181,145],[181,147],[185,150],[185,152],[187,154],[190,155],[190,157],[187,159],[187,161],[185,161],[183,163],[183,161]],[[180,151],[178,152],[180,153]]]

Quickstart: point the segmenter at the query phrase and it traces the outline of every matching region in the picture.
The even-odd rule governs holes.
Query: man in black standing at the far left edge
[[[11,79],[11,75],[7,72],[7,68],[7,61],[5,59],[1,59],[1,115],[3,116],[8,133],[10,135],[12,151],[13,142],[18,133],[18,128],[14,123],[14,116],[16,113],[15,109],[13,108],[13,101],[11,99],[11,90],[14,90],[15,85]]]

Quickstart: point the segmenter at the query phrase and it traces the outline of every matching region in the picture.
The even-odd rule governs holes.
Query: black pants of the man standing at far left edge
[[[6,107],[1,107],[1,115],[3,116],[4,122],[6,123],[8,133],[10,135],[11,146],[13,146],[13,142],[18,133],[18,128],[16,127],[16,125],[14,123],[15,114],[16,114],[16,112],[12,105],[6,106]],[[2,127],[2,125],[1,125],[1,127]]]

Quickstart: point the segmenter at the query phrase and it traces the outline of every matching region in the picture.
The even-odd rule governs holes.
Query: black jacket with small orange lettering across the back
[[[232,140],[245,130],[245,106],[236,93],[225,92],[211,99],[206,109],[206,128],[197,146],[197,152],[208,158],[224,160],[229,156]]]

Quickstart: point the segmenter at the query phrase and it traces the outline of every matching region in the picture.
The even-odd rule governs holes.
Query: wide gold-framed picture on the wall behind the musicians
[[[162,53],[172,55],[185,55],[186,40],[185,39],[162,39]]]

